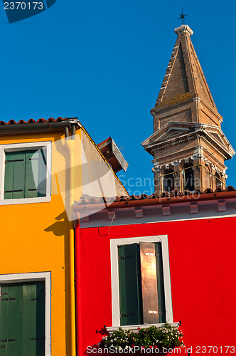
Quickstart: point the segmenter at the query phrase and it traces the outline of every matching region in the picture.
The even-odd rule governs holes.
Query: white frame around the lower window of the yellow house
[[[16,273],[0,275],[0,292],[1,283],[21,283],[21,282],[38,282],[45,281],[45,356],[51,355],[51,273]]]

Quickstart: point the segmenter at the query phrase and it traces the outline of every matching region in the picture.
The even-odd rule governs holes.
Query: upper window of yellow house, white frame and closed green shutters
[[[50,142],[1,145],[1,204],[50,201]]]

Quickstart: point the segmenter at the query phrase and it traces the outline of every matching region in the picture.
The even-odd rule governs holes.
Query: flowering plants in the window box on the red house
[[[111,335],[103,337],[100,345],[102,347],[117,349],[126,349],[135,347],[138,348],[158,348],[160,351],[163,349],[173,349],[174,347],[183,347],[181,340],[183,334],[178,328],[173,328],[171,324],[164,324],[160,328],[150,326],[149,328],[137,328],[138,332],[134,333],[129,330],[119,328]]]

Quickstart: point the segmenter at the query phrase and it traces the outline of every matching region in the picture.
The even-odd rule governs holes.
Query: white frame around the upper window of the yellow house
[[[46,147],[46,196],[36,197],[36,198],[17,198],[17,199],[4,199],[4,180],[5,180],[5,161],[6,152],[19,152],[27,150],[40,150],[42,147]],[[0,172],[0,205],[11,205],[11,204],[28,204],[28,203],[43,203],[50,201],[50,189],[51,189],[51,160],[52,160],[52,142],[51,141],[41,141],[41,142],[24,142],[24,143],[14,143],[9,145],[0,145],[0,167],[3,167]]]

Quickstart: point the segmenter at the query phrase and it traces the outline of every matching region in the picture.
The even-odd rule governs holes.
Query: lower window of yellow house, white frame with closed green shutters
[[[49,272],[0,276],[0,335],[7,355],[50,355]]]

